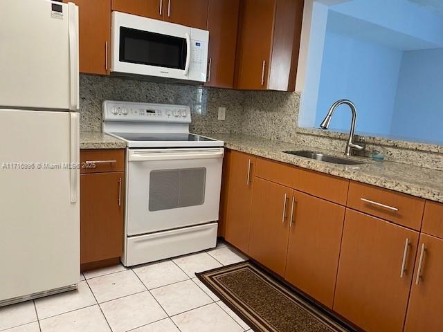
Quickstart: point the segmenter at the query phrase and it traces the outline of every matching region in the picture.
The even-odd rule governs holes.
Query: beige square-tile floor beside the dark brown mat
[[[0,308],[7,332],[251,331],[195,277],[243,257],[217,248],[144,266],[111,266],[80,275],[77,291]]]

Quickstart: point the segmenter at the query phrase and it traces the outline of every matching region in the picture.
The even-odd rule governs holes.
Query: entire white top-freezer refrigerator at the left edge
[[[0,306],[77,288],[78,7],[0,0]]]

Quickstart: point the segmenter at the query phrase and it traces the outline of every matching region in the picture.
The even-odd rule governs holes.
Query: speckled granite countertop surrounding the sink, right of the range
[[[422,197],[431,201],[443,203],[443,172],[434,169],[427,169],[413,165],[393,163],[390,161],[374,161],[369,158],[352,157],[355,160],[362,160],[362,165],[336,165],[322,161],[302,158],[285,154],[282,151],[288,150],[314,150],[342,156],[338,152],[323,151],[304,145],[267,140],[244,134],[205,134],[212,138],[217,138],[225,142],[225,147],[248,154],[254,154],[264,158],[289,163],[299,167],[312,169],[317,172],[340,176],[350,180],[376,185],[404,194]]]

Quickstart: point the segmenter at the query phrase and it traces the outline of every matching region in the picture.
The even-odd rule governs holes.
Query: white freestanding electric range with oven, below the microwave
[[[103,102],[103,131],[125,140],[125,266],[216,246],[224,142],[189,133],[190,108]]]

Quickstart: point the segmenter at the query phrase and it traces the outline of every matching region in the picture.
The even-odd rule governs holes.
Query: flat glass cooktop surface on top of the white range
[[[113,133],[134,142],[215,142],[212,138],[193,133]]]

